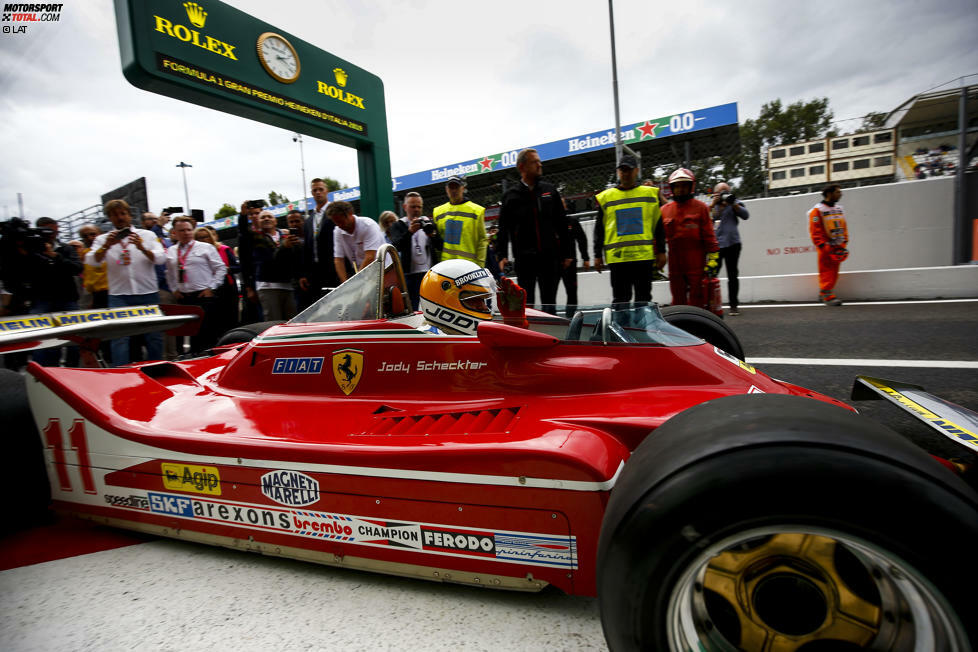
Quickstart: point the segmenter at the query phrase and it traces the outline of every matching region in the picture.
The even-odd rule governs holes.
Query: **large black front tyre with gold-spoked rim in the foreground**
[[[598,598],[612,650],[978,645],[978,494],[881,425],[783,395],[690,408],[627,462]]]

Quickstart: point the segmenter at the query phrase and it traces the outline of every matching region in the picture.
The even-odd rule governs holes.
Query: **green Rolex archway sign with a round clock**
[[[115,11],[131,84],[354,147],[360,212],[393,207],[380,77],[217,0],[115,0]]]

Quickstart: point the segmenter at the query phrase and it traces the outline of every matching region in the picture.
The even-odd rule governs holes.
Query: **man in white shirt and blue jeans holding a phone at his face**
[[[113,199],[104,208],[114,231],[95,238],[85,256],[86,264],[98,267],[106,262],[109,278],[109,308],[155,305],[160,302],[154,265],[163,259],[163,245],[156,234],[132,228],[129,204]],[[163,352],[163,335],[147,333],[146,356],[159,360]],[[112,364],[129,364],[129,338],[112,340]]]

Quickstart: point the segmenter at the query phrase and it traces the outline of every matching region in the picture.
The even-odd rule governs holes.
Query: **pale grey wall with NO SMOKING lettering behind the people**
[[[815,248],[807,214],[820,193],[747,200],[740,223],[740,302],[813,301],[818,297]],[[847,300],[978,297],[978,266],[951,266],[954,179],[937,177],[843,189],[849,259],[836,291]],[[588,252],[593,222],[584,223]],[[665,270],[668,274],[668,267]],[[721,272],[724,301],[726,274]],[[611,300],[610,275],[578,274],[581,305]],[[538,295],[539,296],[539,295]],[[653,299],[670,303],[668,283],[655,283]],[[539,299],[538,299],[539,300]],[[566,303],[563,285],[558,303]]]

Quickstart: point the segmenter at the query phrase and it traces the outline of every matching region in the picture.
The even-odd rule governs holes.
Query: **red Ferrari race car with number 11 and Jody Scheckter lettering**
[[[616,650],[978,642],[978,498],[947,465],[745,363],[705,311],[671,318],[713,343],[655,306],[436,335],[385,258],[246,343],[32,364],[54,506],[267,555],[597,595]]]

